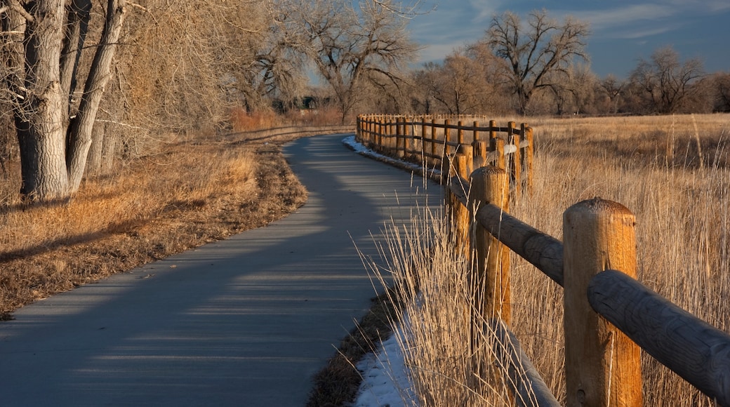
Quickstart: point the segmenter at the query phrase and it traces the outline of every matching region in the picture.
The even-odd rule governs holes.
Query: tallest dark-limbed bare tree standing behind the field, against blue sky
[[[525,114],[536,90],[566,74],[576,59],[588,61],[588,24],[572,17],[562,23],[545,10],[532,12],[526,23],[513,12],[492,19],[483,41],[509,66],[508,80]]]

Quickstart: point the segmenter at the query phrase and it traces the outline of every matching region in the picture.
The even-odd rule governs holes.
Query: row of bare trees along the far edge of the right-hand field
[[[707,74],[671,46],[642,58],[626,79],[598,77],[585,53],[587,24],[545,10],[491,21],[483,38],[413,73],[419,112],[654,115],[730,112],[730,72]]]

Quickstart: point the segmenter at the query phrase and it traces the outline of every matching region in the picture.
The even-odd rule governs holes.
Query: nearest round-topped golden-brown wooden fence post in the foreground
[[[588,284],[607,268],[636,276],[634,214],[595,198],[563,215],[567,406],[641,406],[639,346],[588,304]]]

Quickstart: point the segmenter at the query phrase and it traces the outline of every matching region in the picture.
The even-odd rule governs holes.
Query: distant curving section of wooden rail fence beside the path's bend
[[[445,175],[453,172],[451,159],[461,154],[469,170],[493,164],[510,174],[515,194],[530,191],[532,128],[524,123],[518,127],[515,122],[499,127],[495,120],[484,127],[475,120],[482,118],[359,115],[356,140],[380,154],[420,163]]]

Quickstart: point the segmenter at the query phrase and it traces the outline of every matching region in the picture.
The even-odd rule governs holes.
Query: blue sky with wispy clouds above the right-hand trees
[[[707,72],[730,71],[730,0],[422,0],[422,11],[434,6],[408,25],[411,39],[423,46],[420,63],[476,42],[495,14],[526,16],[544,8],[559,20],[573,15],[590,23],[588,54],[600,77],[626,78],[639,58],[666,45],[683,59],[699,58]]]

